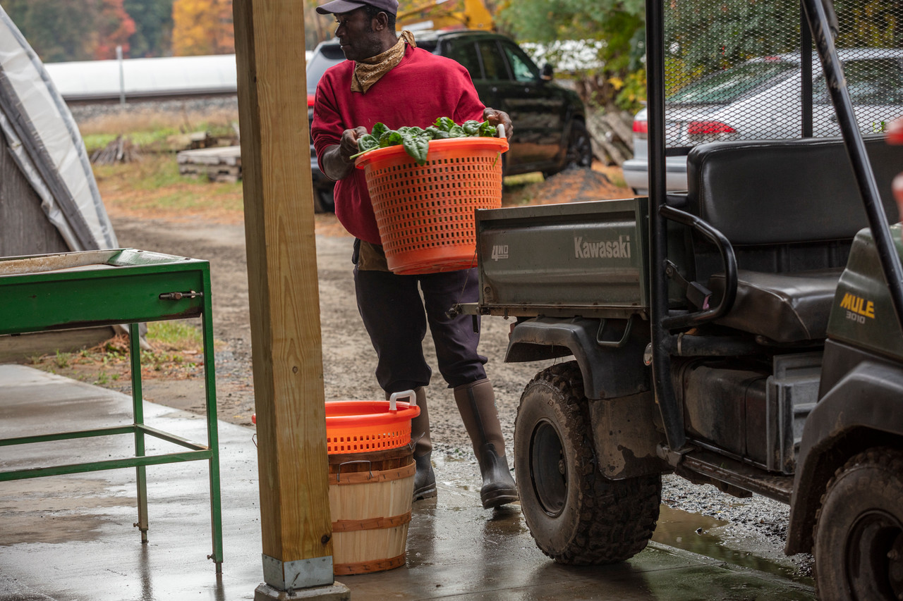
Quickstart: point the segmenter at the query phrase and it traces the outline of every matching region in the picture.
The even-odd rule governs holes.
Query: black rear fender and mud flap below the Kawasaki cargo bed
[[[611,399],[651,390],[643,352],[648,322],[630,319],[545,318],[520,321],[508,340],[507,363],[571,356],[580,365],[583,394]]]

